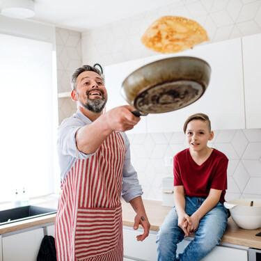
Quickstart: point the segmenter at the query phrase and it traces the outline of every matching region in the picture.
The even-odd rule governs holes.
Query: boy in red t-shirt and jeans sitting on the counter
[[[189,148],[174,157],[174,201],[157,235],[158,261],[203,259],[219,241],[228,223],[223,206],[227,189],[228,158],[209,148],[214,133],[203,113],[184,123]],[[194,239],[176,257],[177,244],[195,232]]]

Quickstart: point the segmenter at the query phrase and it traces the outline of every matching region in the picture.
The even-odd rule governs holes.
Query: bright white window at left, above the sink
[[[57,90],[52,42],[0,34],[0,202],[55,191]]]

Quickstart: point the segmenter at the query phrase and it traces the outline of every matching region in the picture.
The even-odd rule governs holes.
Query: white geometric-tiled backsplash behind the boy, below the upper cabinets
[[[166,166],[165,160],[187,148],[184,133],[128,134],[128,137],[143,198],[161,200],[161,179],[173,176],[173,166]],[[214,131],[214,139],[208,145],[229,159],[226,200],[261,198],[261,129]]]

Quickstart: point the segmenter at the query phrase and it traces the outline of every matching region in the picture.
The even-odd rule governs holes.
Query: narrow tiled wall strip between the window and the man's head
[[[71,91],[70,79],[76,68],[81,66],[81,33],[56,28],[56,61],[58,93]],[[58,99],[59,124],[72,116],[77,104],[70,97]]]

